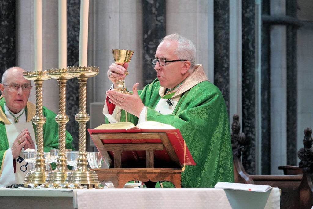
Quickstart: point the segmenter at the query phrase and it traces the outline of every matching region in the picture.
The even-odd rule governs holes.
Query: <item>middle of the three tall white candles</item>
[[[59,68],[66,69],[66,0],[59,0]]]

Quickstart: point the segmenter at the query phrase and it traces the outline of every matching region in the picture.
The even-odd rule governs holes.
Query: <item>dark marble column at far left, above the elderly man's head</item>
[[[15,1],[0,1],[0,82],[3,72],[15,66]]]

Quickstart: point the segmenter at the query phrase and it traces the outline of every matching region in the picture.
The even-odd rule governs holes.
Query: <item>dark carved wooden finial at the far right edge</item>
[[[298,157],[301,160],[299,162],[299,167],[302,168],[303,172],[305,173],[313,172],[313,148],[312,148],[313,139],[311,135],[312,129],[305,128],[303,139],[304,148],[301,148],[298,151]]]

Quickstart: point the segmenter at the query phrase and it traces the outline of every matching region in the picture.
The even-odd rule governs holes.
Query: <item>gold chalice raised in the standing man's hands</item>
[[[126,62],[129,63],[131,60],[131,56],[133,55],[133,51],[131,50],[121,50],[121,49],[112,49],[113,58],[116,64],[123,66]],[[124,72],[124,75],[127,76],[128,71]],[[131,92],[127,91],[124,87],[125,80],[117,80],[115,81],[114,91],[118,91],[124,94],[131,94]]]

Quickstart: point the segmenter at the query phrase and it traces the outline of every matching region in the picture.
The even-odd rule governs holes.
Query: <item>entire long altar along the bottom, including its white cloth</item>
[[[3,208],[280,208],[280,190],[217,188],[0,189]]]

